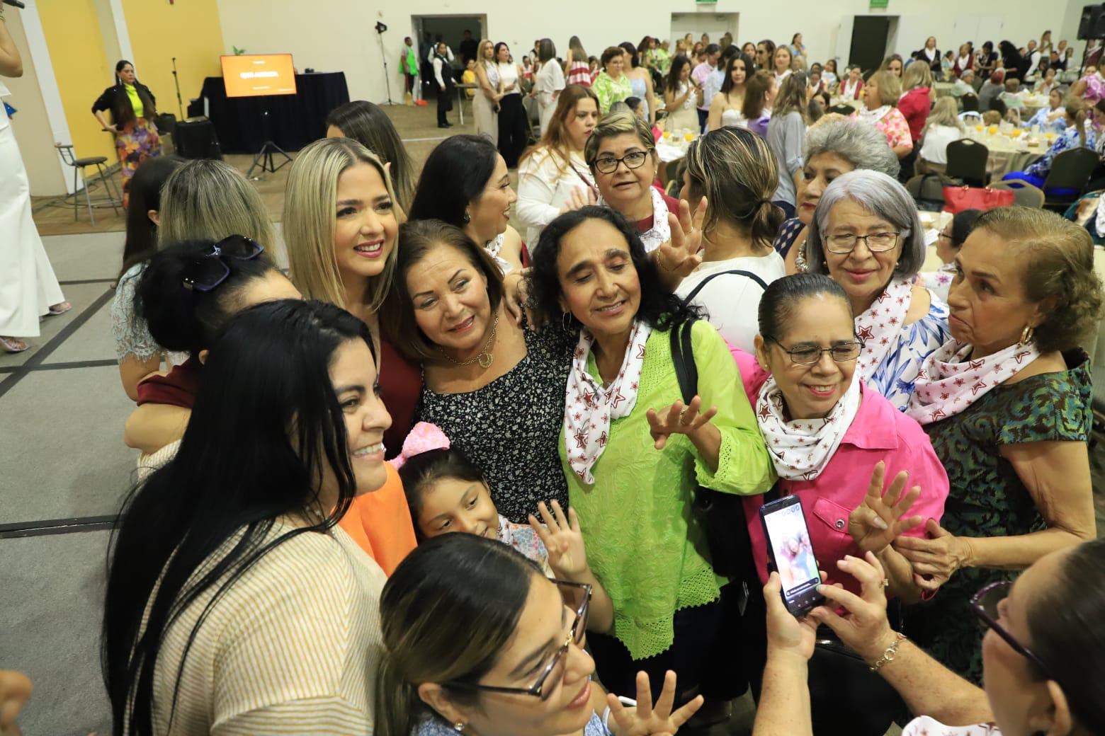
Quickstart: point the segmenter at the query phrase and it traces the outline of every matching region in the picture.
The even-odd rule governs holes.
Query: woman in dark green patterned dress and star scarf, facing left
[[[925,425],[951,484],[943,527],[895,547],[939,595],[907,633],[978,682],[981,631],[968,599],[1054,550],[1095,536],[1086,440],[1102,284],[1093,243],[1043,210],[981,215],[956,257],[953,340],[923,366],[907,413]],[[940,585],[943,583],[943,586]]]

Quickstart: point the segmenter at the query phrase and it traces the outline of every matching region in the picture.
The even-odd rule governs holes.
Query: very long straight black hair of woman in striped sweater
[[[349,509],[356,480],[329,365],[350,340],[373,350],[368,328],[348,312],[284,300],[243,311],[212,346],[176,458],[131,489],[112,538],[101,654],[116,736],[154,733],[154,673],[181,611],[215,590],[190,646],[211,607],[261,557],[299,534],[327,532]],[[318,498],[326,465],[337,478],[333,509]],[[285,514],[319,521],[265,542]],[[176,678],[179,687],[180,669]]]

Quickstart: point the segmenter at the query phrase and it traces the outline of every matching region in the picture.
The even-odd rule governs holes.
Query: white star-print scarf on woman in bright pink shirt
[[[786,418],[782,391],[775,377],[760,386],[756,420],[779,478],[813,480],[829,465],[860,410],[860,381],[852,383],[823,419]]]

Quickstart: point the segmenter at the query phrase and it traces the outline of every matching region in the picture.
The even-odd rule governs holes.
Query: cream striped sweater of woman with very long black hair
[[[290,530],[274,526],[266,541]],[[299,534],[211,608],[181,670],[192,627],[214,595],[208,589],[165,633],[154,672],[155,733],[371,734],[385,582],[341,529]]]

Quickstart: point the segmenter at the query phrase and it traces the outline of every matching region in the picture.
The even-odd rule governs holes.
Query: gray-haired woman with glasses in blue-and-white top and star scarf
[[[806,242],[807,266],[852,302],[864,343],[860,376],[905,410],[922,364],[947,342],[948,307],[914,284],[925,236],[913,198],[881,171],[852,171],[821,195]]]

